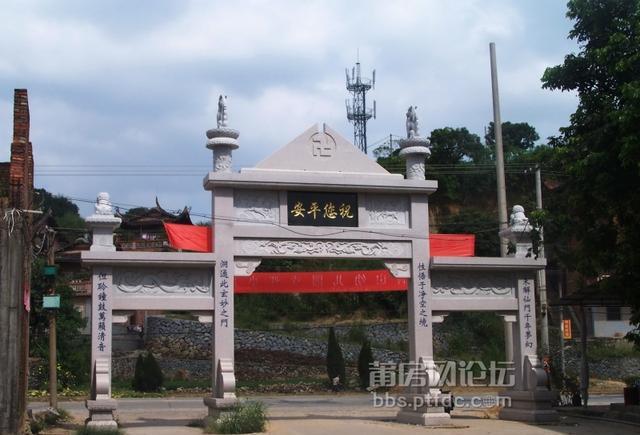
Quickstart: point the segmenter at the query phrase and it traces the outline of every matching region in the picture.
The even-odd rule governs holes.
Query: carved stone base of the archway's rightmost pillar
[[[505,391],[501,397],[509,398],[500,410],[502,420],[544,423],[558,421],[558,413],[551,407],[557,397],[554,391]],[[508,400],[511,400],[509,404]]]

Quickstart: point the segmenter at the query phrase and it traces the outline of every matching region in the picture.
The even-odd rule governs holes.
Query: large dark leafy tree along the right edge
[[[633,307],[640,345],[640,0],[571,0],[579,52],[547,68],[543,88],[576,92],[570,125],[554,138],[563,179],[567,262],[593,287]]]

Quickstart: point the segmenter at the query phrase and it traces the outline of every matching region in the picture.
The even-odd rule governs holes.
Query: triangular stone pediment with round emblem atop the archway
[[[392,175],[326,124],[310,127],[255,169]]]

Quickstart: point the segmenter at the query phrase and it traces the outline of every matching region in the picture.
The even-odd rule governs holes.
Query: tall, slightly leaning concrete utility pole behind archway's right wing
[[[496,179],[498,181],[498,220],[500,231],[507,229],[507,190],[504,181],[504,156],[502,150],[502,121],[500,120],[500,97],[498,96],[498,69],[496,67],[496,44],[489,44],[491,58],[491,91],[493,95],[493,134],[496,141]],[[500,256],[507,256],[507,239],[500,238]],[[505,357],[513,361],[513,325],[504,322]]]

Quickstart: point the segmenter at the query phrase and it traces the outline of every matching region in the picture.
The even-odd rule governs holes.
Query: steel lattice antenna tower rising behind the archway
[[[367,154],[367,121],[373,117],[376,119],[376,102],[373,101],[373,109],[367,109],[367,92],[376,86],[376,70],[373,70],[372,79],[360,77],[360,62],[349,70],[345,69],[347,76],[347,90],[351,92],[351,101],[346,100],[347,119],[353,123],[353,144]]]

